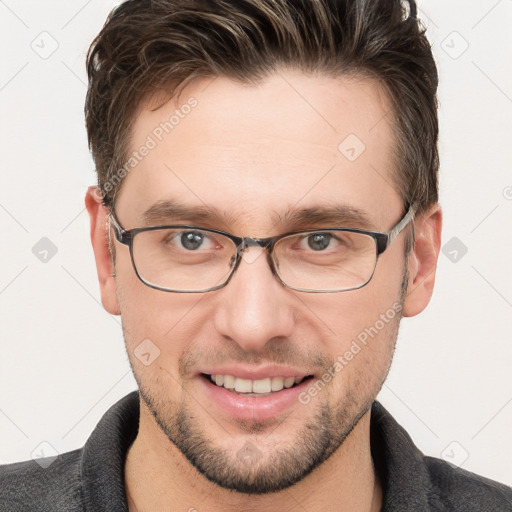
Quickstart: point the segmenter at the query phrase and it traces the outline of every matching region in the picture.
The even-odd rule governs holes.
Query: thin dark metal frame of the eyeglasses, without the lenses
[[[161,290],[164,292],[174,292],[174,293],[206,293],[206,292],[212,292],[215,290],[219,290],[221,288],[224,288],[231,278],[233,277],[233,274],[236,272],[237,268],[240,265],[240,262],[242,261],[242,253],[247,247],[251,246],[259,246],[263,249],[266,249],[267,252],[267,261],[270,266],[270,269],[274,276],[278,279],[278,281],[285,286],[286,288],[289,288],[290,290],[295,290],[298,292],[307,292],[307,293],[339,293],[339,292],[346,292],[351,290],[358,290],[362,288],[363,286],[366,286],[372,279],[375,269],[377,268],[377,262],[379,259],[379,256],[391,245],[393,240],[397,238],[397,236],[405,229],[405,227],[414,219],[414,216],[416,214],[416,205],[411,205],[408,207],[407,211],[405,212],[404,216],[387,232],[381,232],[381,231],[367,231],[364,229],[358,229],[358,228],[339,228],[339,227],[322,227],[322,228],[312,228],[312,229],[301,229],[298,231],[289,231],[287,233],[283,233],[282,235],[277,236],[271,236],[268,238],[252,238],[252,237],[240,237],[233,235],[231,233],[227,233],[226,231],[221,231],[218,229],[212,229],[212,228],[203,228],[200,226],[194,226],[190,224],[169,224],[169,225],[162,225],[162,226],[148,226],[143,228],[133,228],[133,229],[124,229],[119,221],[117,220],[114,211],[112,210],[109,214],[109,220],[111,222],[112,227],[114,228],[114,233],[116,240],[123,244],[128,246],[130,250],[130,258],[132,260],[133,269],[135,270],[135,274],[139,278],[140,281],[142,281],[146,286],[149,286],[150,288],[154,288],[156,290]],[[171,288],[165,288],[162,286],[155,285],[153,283],[150,283],[149,281],[146,281],[140,274],[139,270],[137,269],[137,265],[135,264],[135,259],[133,256],[133,240],[135,236],[138,233],[143,233],[145,231],[156,231],[161,229],[176,229],[176,228],[184,228],[184,229],[196,229],[199,231],[206,231],[209,233],[217,233],[220,235],[223,235],[227,238],[229,238],[236,247],[236,254],[235,254],[235,263],[233,265],[233,268],[231,269],[231,272],[227,276],[226,280],[217,286],[206,288],[203,290],[174,290]],[[276,265],[274,262],[274,256],[273,251],[274,247],[281,239],[292,236],[292,235],[298,235],[302,233],[321,233],[322,231],[343,231],[348,233],[360,233],[362,235],[370,236],[375,241],[375,250],[376,250],[376,258],[375,258],[375,265],[373,267],[373,271],[370,275],[370,277],[361,285],[359,286],[353,286],[351,288],[343,288],[338,290],[312,290],[312,289],[304,289],[304,288],[295,288],[293,286],[289,286],[286,284],[281,277],[279,276],[279,273],[276,269]]]

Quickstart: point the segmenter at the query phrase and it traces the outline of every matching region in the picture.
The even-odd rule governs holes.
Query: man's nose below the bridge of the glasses
[[[247,247],[236,272],[219,292],[215,328],[244,350],[259,352],[268,341],[291,336],[293,298],[272,273],[265,249]]]

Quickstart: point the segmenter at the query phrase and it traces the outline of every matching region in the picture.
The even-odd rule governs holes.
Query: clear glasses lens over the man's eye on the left
[[[174,291],[200,291],[223,284],[236,246],[224,235],[199,229],[142,231],[133,239],[133,261],[147,284]]]

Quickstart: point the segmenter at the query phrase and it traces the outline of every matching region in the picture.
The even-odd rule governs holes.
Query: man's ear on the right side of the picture
[[[433,205],[414,220],[415,241],[409,253],[409,282],[403,305],[403,316],[421,313],[434,291],[437,258],[441,249],[442,212]]]

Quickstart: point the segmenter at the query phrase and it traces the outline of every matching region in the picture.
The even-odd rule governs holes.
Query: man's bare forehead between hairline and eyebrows
[[[399,214],[389,118],[368,78],[282,70],[257,85],[196,79],[178,99],[139,109],[127,157],[138,154],[117,210],[133,225],[165,200],[236,211],[234,224],[265,236],[276,214],[299,205]]]

